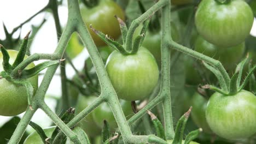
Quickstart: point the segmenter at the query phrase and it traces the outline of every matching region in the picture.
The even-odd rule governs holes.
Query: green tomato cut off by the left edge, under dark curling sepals
[[[13,64],[18,51],[7,50],[10,56],[9,63]],[[28,56],[25,56],[25,59]],[[3,71],[3,55],[0,53],[0,71]],[[26,69],[31,69],[34,64],[29,64]],[[38,75],[35,75],[26,80],[30,82],[34,88],[34,93],[38,88]],[[0,80],[0,115],[1,116],[16,116],[26,111],[27,109],[27,90],[25,86],[17,85],[9,82],[6,79]]]

